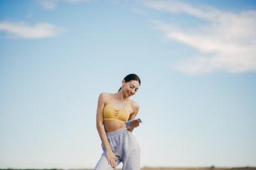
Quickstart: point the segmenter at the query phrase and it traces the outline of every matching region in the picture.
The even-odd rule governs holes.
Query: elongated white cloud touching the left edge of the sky
[[[8,32],[10,38],[49,38],[63,30],[47,23],[28,25],[24,22],[0,22],[0,31]]]

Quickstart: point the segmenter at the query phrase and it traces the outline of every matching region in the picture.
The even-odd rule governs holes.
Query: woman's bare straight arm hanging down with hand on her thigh
[[[106,157],[108,159],[108,164],[111,164],[112,167],[116,167],[116,157],[112,151],[112,148],[109,144],[106,131],[104,129],[104,117],[103,117],[103,109],[104,103],[108,100],[108,96],[106,94],[101,93],[98,99],[98,106],[97,106],[97,115],[96,115],[96,124],[97,124],[97,131],[99,132],[100,139],[102,144],[106,148]]]

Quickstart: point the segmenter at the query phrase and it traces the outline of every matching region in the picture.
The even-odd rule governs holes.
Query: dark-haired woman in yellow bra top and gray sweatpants
[[[124,122],[134,120],[139,104],[129,99],[140,87],[140,78],[128,74],[116,94],[102,92],[97,106],[97,131],[102,141],[103,153],[95,170],[114,169],[123,162],[123,170],[140,169],[140,145],[132,135],[140,121],[126,127]]]

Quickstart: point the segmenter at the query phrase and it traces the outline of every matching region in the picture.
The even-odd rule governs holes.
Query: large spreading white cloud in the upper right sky
[[[143,1],[143,4],[170,13],[186,13],[209,23],[186,29],[164,21],[152,22],[167,38],[198,50],[198,56],[188,56],[175,64],[175,69],[188,74],[256,71],[256,11],[232,13],[180,1]]]

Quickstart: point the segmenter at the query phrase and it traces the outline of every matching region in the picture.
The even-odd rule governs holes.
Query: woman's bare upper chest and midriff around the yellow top
[[[127,103],[124,103],[124,106],[123,106],[122,103],[120,103],[120,101],[118,101],[118,99],[116,99],[116,96],[114,94],[108,94],[108,96],[109,96],[109,101],[107,103],[105,103],[105,106],[110,103],[113,106],[113,108],[119,110],[119,109],[124,108],[124,106],[127,104]],[[131,99],[129,99],[129,100],[131,100]],[[129,113],[129,115],[131,115],[131,113],[133,113],[132,101],[130,101],[130,103],[127,104],[125,109]],[[125,127],[125,124],[122,122],[116,122],[114,120],[104,120],[104,128],[105,128],[106,132],[113,132],[118,129],[121,129],[122,127]]]

